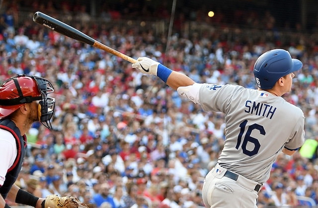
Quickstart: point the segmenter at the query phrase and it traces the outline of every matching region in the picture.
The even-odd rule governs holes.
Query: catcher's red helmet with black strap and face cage
[[[40,100],[38,119],[52,130],[50,119],[54,113],[55,99],[48,97],[52,92],[54,88],[45,78],[25,74],[10,77],[0,86],[0,118],[9,116],[25,103]]]

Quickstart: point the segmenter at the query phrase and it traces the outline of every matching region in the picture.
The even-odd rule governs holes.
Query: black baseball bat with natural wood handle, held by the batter
[[[93,38],[80,32],[79,30],[75,29],[74,27],[71,27],[70,25],[68,25],[64,22],[61,22],[60,20],[57,20],[57,19],[55,19],[47,14],[40,12],[40,11],[37,11],[34,13],[33,21],[40,24],[40,25],[43,25],[51,30],[54,30],[58,33],[61,33],[65,36],[68,36],[68,37],[73,38],[75,40],[78,40],[82,43],[86,43],[88,45],[94,46],[94,47],[99,48],[99,49],[106,51],[108,53],[111,53],[115,56],[118,56],[118,57],[120,57],[120,58],[122,58],[130,63],[137,62],[137,60],[135,60],[135,59],[133,59],[125,54],[122,54],[119,51],[116,51],[116,50],[94,40]]]

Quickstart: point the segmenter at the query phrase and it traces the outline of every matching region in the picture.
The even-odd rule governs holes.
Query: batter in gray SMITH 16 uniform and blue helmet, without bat
[[[257,193],[277,155],[292,155],[304,143],[304,113],[281,97],[291,90],[293,72],[303,64],[283,49],[268,51],[254,65],[258,89],[247,89],[196,83],[149,58],[137,61],[133,68],[157,75],[203,110],[225,114],[224,148],[203,185],[206,207],[256,208]]]

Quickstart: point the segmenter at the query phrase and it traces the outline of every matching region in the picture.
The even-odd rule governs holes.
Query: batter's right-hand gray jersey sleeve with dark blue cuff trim
[[[288,150],[297,150],[300,148],[304,142],[305,142],[305,130],[304,130],[304,123],[305,123],[305,116],[302,113],[302,116],[300,116],[298,122],[295,125],[294,128],[294,134],[291,135],[291,139],[289,139],[285,143],[285,148]]]

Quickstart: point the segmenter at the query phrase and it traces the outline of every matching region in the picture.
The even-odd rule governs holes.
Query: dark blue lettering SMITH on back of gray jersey
[[[245,113],[254,114],[256,116],[262,116],[269,119],[272,119],[276,111],[276,107],[264,103],[257,103],[255,101],[252,102],[250,100],[247,100],[245,102],[245,107]]]

